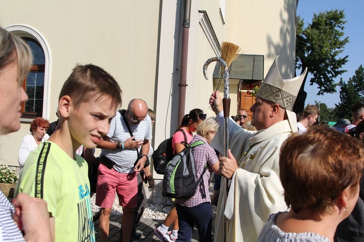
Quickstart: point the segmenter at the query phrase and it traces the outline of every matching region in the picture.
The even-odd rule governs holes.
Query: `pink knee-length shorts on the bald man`
[[[138,193],[136,172],[120,173],[114,168],[109,169],[100,164],[96,188],[96,205],[101,208],[112,208],[115,192],[122,207],[135,208]]]

